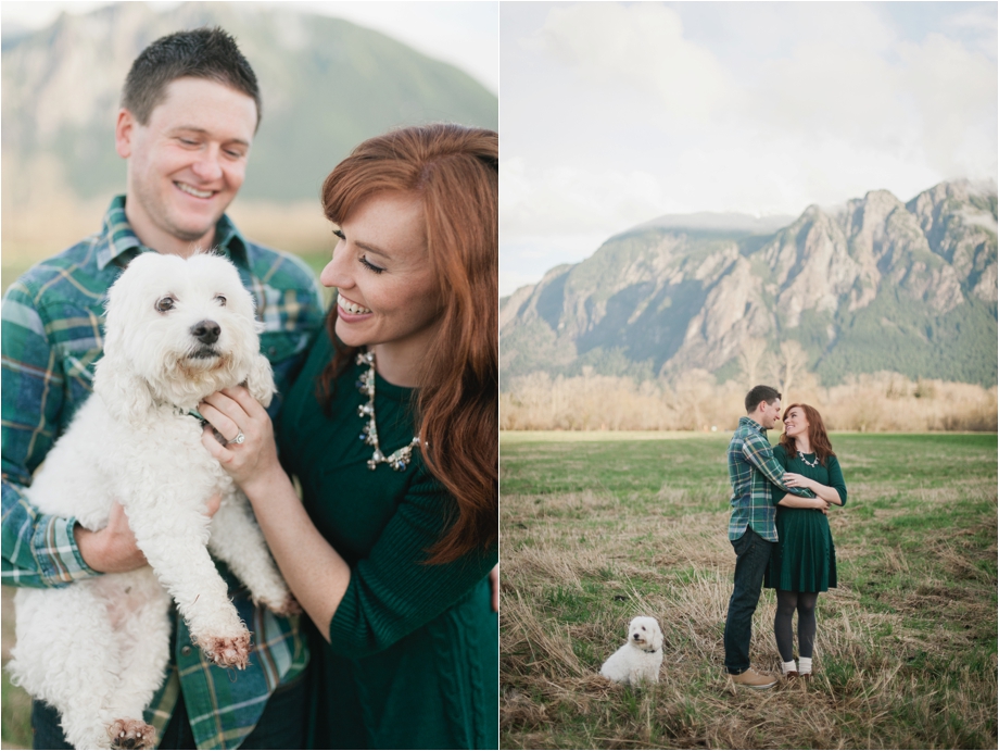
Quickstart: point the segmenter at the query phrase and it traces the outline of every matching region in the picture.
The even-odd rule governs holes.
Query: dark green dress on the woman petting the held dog
[[[454,499],[420,450],[403,472],[366,462],[359,440],[367,401],[352,365],[337,381],[331,413],[316,378],[332,356],[319,335],[287,396],[277,436],[319,531],[351,566],[330,624],[312,629],[312,748],[464,749],[500,743],[498,617],[488,574],[497,551],[426,565]],[[413,439],[413,389],[376,377],[375,413],[385,455]],[[303,622],[306,619],[303,618]]]

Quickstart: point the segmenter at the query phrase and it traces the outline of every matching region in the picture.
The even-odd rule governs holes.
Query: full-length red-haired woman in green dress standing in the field
[[[821,500],[846,503],[846,484],[833,453],[822,415],[808,404],[792,404],[784,412],[784,434],[773,449],[784,467],[784,483],[808,488]],[[774,489],[777,500],[777,545],[770,556],[766,584],[777,590],[773,633],[785,678],[812,676],[815,644],[815,602],[819,592],[836,586],[836,548],[824,512],[800,508],[807,501]],[[794,661],[792,616],[798,611],[798,664]]]

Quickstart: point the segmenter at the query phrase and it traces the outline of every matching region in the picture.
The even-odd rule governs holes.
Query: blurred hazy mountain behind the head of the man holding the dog
[[[215,25],[237,38],[263,97],[243,199],[315,201],[350,149],[397,125],[498,125],[495,95],[469,75],[346,21],[290,5],[188,2],[156,12],[113,3],[4,35],[5,210],[56,191],[89,199],[121,190],[113,126],[132,60],[165,34]]]

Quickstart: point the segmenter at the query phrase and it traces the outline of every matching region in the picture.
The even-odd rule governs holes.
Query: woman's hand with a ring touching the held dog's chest
[[[205,425],[201,442],[251,500],[254,493],[249,488],[275,471],[283,473],[270,416],[245,388],[237,386],[216,391],[198,405],[198,411],[210,423]],[[213,427],[228,443],[219,442]],[[240,434],[243,441],[237,443]]]

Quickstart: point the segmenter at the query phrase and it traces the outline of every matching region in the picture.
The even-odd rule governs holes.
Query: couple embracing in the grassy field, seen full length
[[[819,412],[792,404],[784,434],[771,448],[767,430],[781,420],[781,393],[756,386],[745,417],[729,443],[735,584],[725,618],[725,669],[732,681],[755,689],[776,679],[749,666],[753,614],[763,583],[776,589],[773,630],[785,679],[810,678],[819,592],[836,586],[836,549],[826,514],[846,503],[846,484]],[[798,612],[794,660],[792,617]]]

